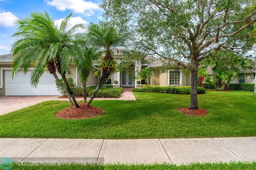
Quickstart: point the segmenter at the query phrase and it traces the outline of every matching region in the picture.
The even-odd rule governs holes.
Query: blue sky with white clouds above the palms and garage
[[[0,0],[0,55],[9,54],[10,46],[15,41],[12,38],[16,31],[14,20],[26,18],[33,11],[45,10],[57,25],[70,13],[73,13],[72,25],[98,23],[104,20],[104,11],[99,4],[100,0]]]

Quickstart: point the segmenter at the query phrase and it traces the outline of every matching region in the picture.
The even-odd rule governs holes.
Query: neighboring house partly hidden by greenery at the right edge
[[[213,77],[211,67],[207,67],[206,71],[211,77]],[[255,78],[255,70],[241,70],[237,78],[232,78],[230,83],[253,83]]]

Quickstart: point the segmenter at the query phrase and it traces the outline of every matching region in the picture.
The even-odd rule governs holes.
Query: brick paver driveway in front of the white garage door
[[[59,96],[1,96],[0,115],[32,106],[46,100],[57,100],[58,97]]]

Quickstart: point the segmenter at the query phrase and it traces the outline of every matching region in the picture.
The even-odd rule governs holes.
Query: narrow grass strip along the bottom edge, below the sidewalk
[[[227,163],[191,163],[190,165],[172,165],[172,164],[153,164],[153,165],[125,165],[125,164],[106,164],[106,165],[81,165],[81,164],[61,164],[61,165],[40,165],[36,164],[17,164],[14,163],[12,169],[86,169],[86,170],[235,170],[235,169],[256,169],[256,162],[229,162]]]

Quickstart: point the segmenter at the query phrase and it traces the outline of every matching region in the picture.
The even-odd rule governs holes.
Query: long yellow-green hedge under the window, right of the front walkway
[[[197,87],[197,93],[205,93],[203,87]],[[154,86],[154,85],[142,85],[142,88],[133,88],[132,92],[156,92],[156,93],[169,93],[169,94],[190,94],[190,86]]]

